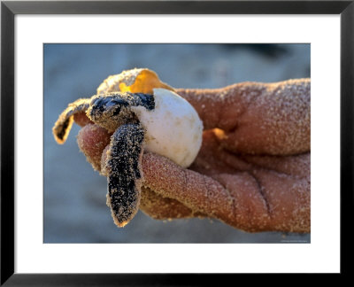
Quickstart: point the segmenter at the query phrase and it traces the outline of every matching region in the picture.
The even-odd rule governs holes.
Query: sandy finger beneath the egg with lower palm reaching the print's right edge
[[[236,228],[253,232],[310,230],[310,192],[305,180],[260,171],[212,179],[152,153],[143,157],[142,169],[144,184],[151,190]]]

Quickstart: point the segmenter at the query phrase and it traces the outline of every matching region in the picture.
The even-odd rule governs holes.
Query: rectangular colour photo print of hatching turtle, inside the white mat
[[[311,43],[43,43],[44,244],[310,244]]]

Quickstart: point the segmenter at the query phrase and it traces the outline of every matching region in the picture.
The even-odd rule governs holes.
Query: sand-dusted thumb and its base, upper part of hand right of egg
[[[220,128],[232,151],[289,155],[310,151],[310,79],[242,82],[223,89],[177,89],[204,128]]]

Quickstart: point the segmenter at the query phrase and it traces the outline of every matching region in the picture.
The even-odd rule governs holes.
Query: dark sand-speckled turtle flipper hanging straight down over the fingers
[[[120,126],[107,151],[107,206],[114,222],[125,226],[137,213],[142,181],[141,159],[144,130],[135,120]]]

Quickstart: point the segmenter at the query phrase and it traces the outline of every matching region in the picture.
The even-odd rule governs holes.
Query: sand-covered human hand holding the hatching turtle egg
[[[204,122],[189,169],[142,157],[140,208],[155,219],[212,217],[250,232],[310,232],[310,80],[176,89]],[[84,113],[81,151],[104,175],[110,134]]]

